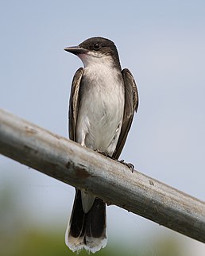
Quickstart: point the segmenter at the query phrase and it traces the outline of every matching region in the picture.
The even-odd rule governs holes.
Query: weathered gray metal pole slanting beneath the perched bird
[[[205,242],[205,203],[0,110],[0,153]]]

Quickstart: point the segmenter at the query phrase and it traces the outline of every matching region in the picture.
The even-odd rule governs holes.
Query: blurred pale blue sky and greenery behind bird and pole
[[[205,2],[0,0],[0,107],[64,137],[75,70],[63,48],[110,38],[138,84],[122,159],[204,200]],[[0,156],[0,255],[72,255],[64,232],[74,188]],[[97,255],[204,256],[205,245],[107,208]],[[86,255],[82,253],[82,255]]]

